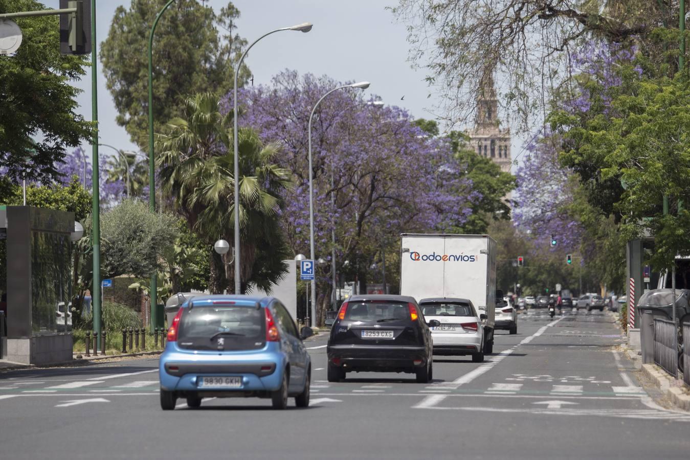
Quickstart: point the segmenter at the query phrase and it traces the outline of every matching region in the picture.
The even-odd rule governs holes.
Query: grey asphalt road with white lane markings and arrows
[[[618,350],[611,314],[537,310],[484,363],[326,381],[308,341],[312,405],[184,400],[163,412],[157,359],[0,374],[1,459],[688,459],[690,413],[659,406]]]

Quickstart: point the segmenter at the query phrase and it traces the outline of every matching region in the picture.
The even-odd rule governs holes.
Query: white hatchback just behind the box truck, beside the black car
[[[485,314],[468,299],[432,298],[422,299],[420,308],[424,321],[435,319],[441,326],[431,328],[434,354],[472,355],[473,363],[484,361]]]

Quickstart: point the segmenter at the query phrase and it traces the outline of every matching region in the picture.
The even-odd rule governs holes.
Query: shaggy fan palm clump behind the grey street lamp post
[[[213,94],[197,94],[185,101],[183,118],[172,119],[157,134],[157,165],[164,192],[209,248],[219,238],[233,241],[233,114],[221,114]],[[239,130],[240,234],[242,292],[249,285],[270,288],[286,273],[282,261],[291,256],[279,228],[284,192],[291,186],[288,170],[274,163],[279,143],[264,146],[258,134]],[[210,289],[232,289],[234,274],[225,279],[215,252]]]

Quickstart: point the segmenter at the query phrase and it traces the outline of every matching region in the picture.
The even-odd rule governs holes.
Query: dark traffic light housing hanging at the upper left
[[[60,14],[60,53],[91,52],[91,2],[60,0],[60,9],[77,8],[77,12]]]

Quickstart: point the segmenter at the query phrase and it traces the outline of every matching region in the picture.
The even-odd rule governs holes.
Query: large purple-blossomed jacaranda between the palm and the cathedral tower
[[[285,71],[270,86],[240,92],[240,125],[284,146],[277,161],[292,172],[295,188],[287,192],[281,223],[295,254],[308,253],[309,115],[342,84]],[[232,102],[224,101],[226,112]],[[447,139],[427,136],[402,108],[367,102],[357,90],[334,92],[319,105],[312,127],[316,256],[330,259],[335,228],[337,272],[356,277],[362,290],[375,257],[397,254],[401,232],[462,226],[472,194]],[[332,288],[326,274],[318,286],[322,321]]]

